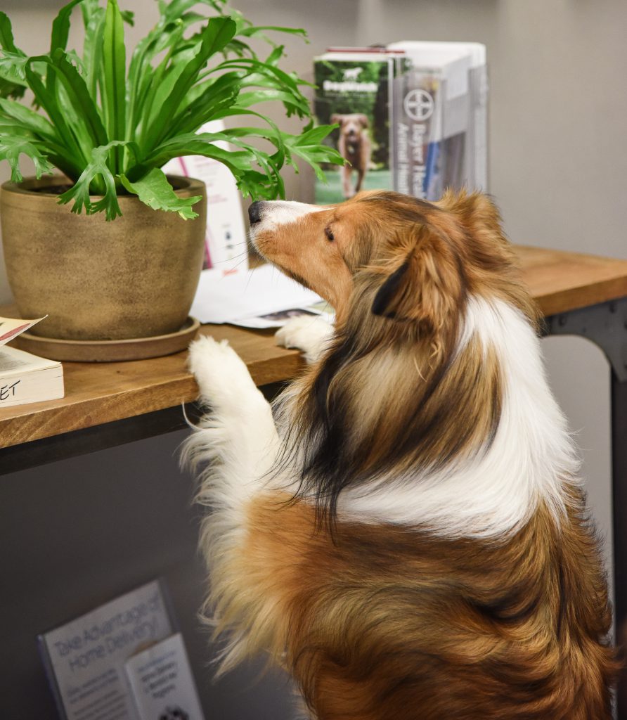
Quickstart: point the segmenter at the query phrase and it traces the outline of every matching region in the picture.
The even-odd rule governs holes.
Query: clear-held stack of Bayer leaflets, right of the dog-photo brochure
[[[476,42],[394,42],[394,189],[437,200],[487,190],[487,69]]]

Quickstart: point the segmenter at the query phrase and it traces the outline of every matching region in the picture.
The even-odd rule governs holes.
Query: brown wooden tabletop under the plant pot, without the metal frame
[[[525,282],[544,315],[627,296],[627,261],[516,246]],[[8,314],[0,308],[0,315]],[[297,351],[274,344],[269,330],[204,325],[202,333],[227,338],[256,384],[294,377]],[[186,353],[121,363],[63,364],[66,397],[0,410],[0,448],[132,418],[191,402],[197,395]]]

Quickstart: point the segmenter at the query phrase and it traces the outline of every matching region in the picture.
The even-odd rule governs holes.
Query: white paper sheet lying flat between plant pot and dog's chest
[[[320,302],[320,296],[271,265],[216,278],[204,271],[190,314],[201,323],[233,323]]]

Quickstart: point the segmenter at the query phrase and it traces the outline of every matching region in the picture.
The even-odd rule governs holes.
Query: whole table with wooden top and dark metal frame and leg
[[[615,616],[627,636],[627,261],[541,248],[515,248],[525,282],[546,318],[547,334],[582,335],[611,367]],[[0,315],[10,315],[0,308]],[[276,347],[271,332],[204,325],[228,338],[259,386],[294,377],[297,351]],[[0,410],[0,473],[103,449],[184,427],[181,405],[197,395],[186,353],[136,362],[65,363],[66,397]],[[192,406],[189,406],[190,410]],[[627,682],[619,688],[627,720]]]

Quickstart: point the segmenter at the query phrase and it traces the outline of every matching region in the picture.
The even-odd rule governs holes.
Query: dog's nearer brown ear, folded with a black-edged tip
[[[424,225],[414,234],[411,249],[376,292],[372,312],[437,331],[458,310],[465,287],[462,266],[446,238]]]

